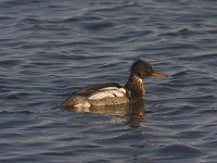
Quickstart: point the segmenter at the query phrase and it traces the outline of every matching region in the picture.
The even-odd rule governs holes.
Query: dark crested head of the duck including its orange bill
[[[166,74],[159,74],[154,72],[151,64],[142,60],[138,60],[132,63],[130,67],[130,74],[135,74],[141,79],[143,79],[146,76],[167,76]]]

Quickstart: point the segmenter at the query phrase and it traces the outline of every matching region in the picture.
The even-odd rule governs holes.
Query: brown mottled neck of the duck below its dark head
[[[142,79],[135,74],[130,74],[125,88],[130,90],[131,96],[144,96],[145,92]]]

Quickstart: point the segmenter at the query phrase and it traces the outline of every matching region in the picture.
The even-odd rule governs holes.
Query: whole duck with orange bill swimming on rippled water
[[[125,86],[117,83],[90,85],[75,91],[61,106],[65,109],[90,109],[133,104],[144,99],[143,79],[148,76],[168,77],[166,74],[156,73],[149,62],[139,59],[132,62]]]

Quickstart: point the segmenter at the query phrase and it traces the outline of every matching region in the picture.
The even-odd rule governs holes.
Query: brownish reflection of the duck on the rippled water
[[[118,116],[126,122],[130,127],[139,127],[140,122],[145,115],[145,101],[140,99],[131,104],[106,105],[106,106],[91,106],[91,108],[65,108],[76,113],[94,113],[107,116]]]

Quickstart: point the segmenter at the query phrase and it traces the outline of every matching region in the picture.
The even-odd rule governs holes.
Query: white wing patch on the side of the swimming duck
[[[101,100],[104,98],[115,98],[115,97],[124,97],[126,96],[125,88],[117,88],[117,87],[106,87],[99,90],[99,92],[90,96],[89,100]]]

